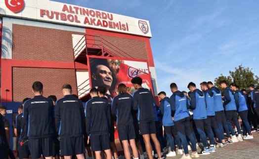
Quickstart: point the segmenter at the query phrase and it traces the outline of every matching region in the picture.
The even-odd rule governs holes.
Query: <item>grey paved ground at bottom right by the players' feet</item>
[[[200,156],[198,159],[259,159],[259,133],[253,132],[253,135],[254,139],[226,145],[224,148],[217,148],[215,153]],[[116,143],[118,151],[122,151],[120,144],[118,142]],[[198,148],[198,151],[201,150]],[[191,151],[189,152],[191,153]],[[180,159],[181,157],[181,155],[177,155],[176,157],[168,157],[167,159]],[[125,159],[125,157],[121,156],[120,159]]]

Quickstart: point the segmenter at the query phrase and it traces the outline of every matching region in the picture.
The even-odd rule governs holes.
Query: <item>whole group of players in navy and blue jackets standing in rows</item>
[[[86,150],[89,157],[94,152],[95,159],[118,159],[114,121],[126,159],[138,159],[139,155],[141,159],[145,155],[149,159],[162,159],[167,143],[171,147],[167,157],[178,154],[182,155],[181,159],[199,158],[216,152],[216,147],[253,139],[250,124],[257,125],[248,114],[255,112],[259,117],[259,89],[255,90],[253,84],[249,86],[251,100],[248,104],[245,90],[240,91],[235,83],[228,87],[225,80],[220,81],[223,96],[210,81],[200,83],[201,90],[190,82],[189,93],[179,91],[176,83],[171,83],[173,94],[169,98],[164,91],[160,92],[159,107],[152,92],[141,86],[141,78],[135,77],[131,83],[136,91],[129,94],[126,85],[121,83],[112,102],[105,97],[104,86],[90,89],[91,99],[84,107],[83,102],[72,94],[70,84],[63,85],[64,97],[56,101],[55,96],[43,97],[43,84],[34,82],[35,96],[24,100],[15,121],[20,159],[28,159],[29,155],[32,159],[42,155],[45,159],[56,156],[85,159]],[[237,114],[243,122],[243,133]],[[1,119],[0,159],[6,159],[8,153],[2,145],[7,141]],[[202,145],[201,152],[197,152],[197,143]],[[192,150],[190,155],[188,147]]]

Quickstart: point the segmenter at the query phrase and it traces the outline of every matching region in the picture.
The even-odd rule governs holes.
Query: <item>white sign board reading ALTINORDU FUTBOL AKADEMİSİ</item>
[[[152,37],[147,20],[50,0],[0,0],[0,16]]]

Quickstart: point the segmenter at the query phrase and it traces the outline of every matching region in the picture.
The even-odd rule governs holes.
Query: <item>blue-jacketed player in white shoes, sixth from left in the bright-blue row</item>
[[[237,111],[236,111],[237,108],[236,108],[236,103],[235,103],[235,99],[234,99],[234,93],[231,90],[231,88],[227,86],[226,80],[221,80],[219,82],[219,84],[220,84],[220,87],[222,89],[224,89],[223,106],[225,107],[225,115],[226,115],[228,128],[232,134],[232,141],[233,142],[243,141],[242,136],[241,136],[240,125],[239,125],[239,122],[237,119]],[[237,127],[238,139],[237,139],[234,129],[232,127],[231,120],[234,122],[234,124]]]

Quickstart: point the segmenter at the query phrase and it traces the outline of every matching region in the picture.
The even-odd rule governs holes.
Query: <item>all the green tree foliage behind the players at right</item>
[[[236,83],[240,89],[246,89],[249,84],[259,84],[259,77],[254,74],[253,69],[244,67],[242,64],[235,68],[235,71],[229,71],[230,76],[223,76],[220,74],[215,79],[215,85],[219,87],[220,80],[226,80],[228,85],[232,82]],[[220,87],[219,87],[220,88]]]

